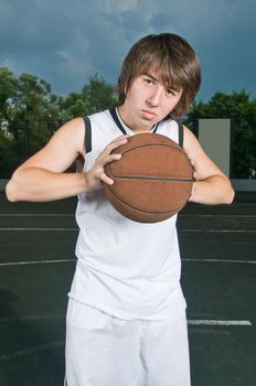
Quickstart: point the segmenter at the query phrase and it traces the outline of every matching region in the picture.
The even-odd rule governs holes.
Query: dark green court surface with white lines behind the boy
[[[0,194],[0,386],[63,385],[75,204]],[[189,204],[178,229],[192,386],[255,386],[256,200]]]

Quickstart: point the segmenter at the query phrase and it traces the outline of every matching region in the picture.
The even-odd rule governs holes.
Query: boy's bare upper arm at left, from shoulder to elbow
[[[63,172],[74,160],[85,157],[85,125],[83,118],[75,118],[63,125],[38,153],[18,170],[42,168],[52,172]]]

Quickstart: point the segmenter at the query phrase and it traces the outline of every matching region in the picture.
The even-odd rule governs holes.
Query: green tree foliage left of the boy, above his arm
[[[89,77],[79,93],[57,96],[51,85],[0,67],[0,178],[9,178],[25,158],[41,149],[60,125],[116,105],[111,85]]]

